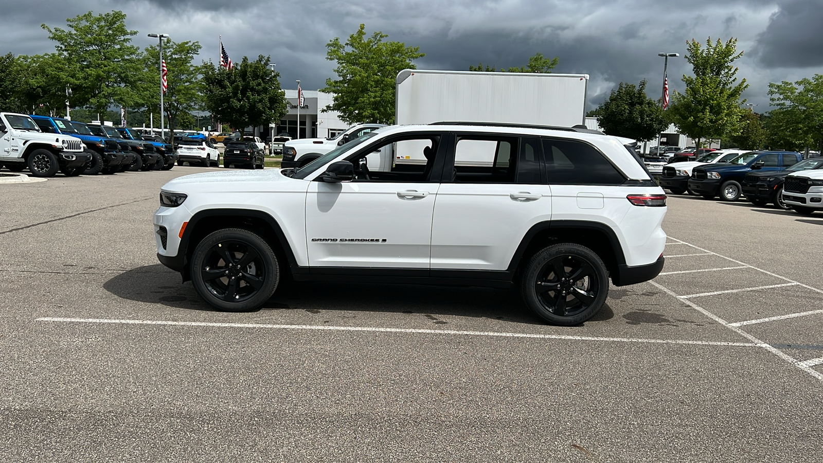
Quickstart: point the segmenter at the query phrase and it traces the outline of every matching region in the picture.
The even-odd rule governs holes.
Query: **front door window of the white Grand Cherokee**
[[[369,133],[372,129],[364,131]],[[439,136],[395,139],[346,158],[355,167],[357,182],[426,182],[435,166]]]

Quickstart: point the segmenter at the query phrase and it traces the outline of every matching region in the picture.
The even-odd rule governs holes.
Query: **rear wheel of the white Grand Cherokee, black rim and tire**
[[[593,250],[574,243],[537,251],[523,268],[520,281],[523,302],[552,325],[590,320],[602,309],[608,292],[606,264]]]

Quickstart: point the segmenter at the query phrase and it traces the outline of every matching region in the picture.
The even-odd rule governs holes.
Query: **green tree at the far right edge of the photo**
[[[774,107],[770,142],[796,149],[823,147],[823,75],[770,83],[769,96]]]

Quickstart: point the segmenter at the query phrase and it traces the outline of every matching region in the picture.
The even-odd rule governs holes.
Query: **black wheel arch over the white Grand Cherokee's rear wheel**
[[[576,243],[593,250],[612,276],[619,274],[619,266],[625,265],[623,247],[611,227],[601,222],[557,220],[539,222],[523,235],[509,270],[518,270],[538,250],[559,242]]]

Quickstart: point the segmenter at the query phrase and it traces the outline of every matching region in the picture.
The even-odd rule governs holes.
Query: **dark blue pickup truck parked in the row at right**
[[[705,199],[720,196],[723,201],[737,201],[742,182],[751,171],[784,171],[800,162],[799,152],[752,151],[735,157],[728,164],[697,166],[691,172],[689,189]]]

